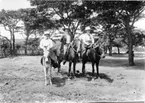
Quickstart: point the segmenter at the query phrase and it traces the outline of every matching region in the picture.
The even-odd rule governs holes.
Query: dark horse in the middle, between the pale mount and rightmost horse
[[[70,45],[67,48],[67,61],[69,61],[69,70],[68,70],[68,76],[71,76],[71,67],[73,63],[73,76],[75,76],[76,72],[76,63],[79,61],[79,56],[78,56],[78,45],[79,45],[79,40],[74,39]]]

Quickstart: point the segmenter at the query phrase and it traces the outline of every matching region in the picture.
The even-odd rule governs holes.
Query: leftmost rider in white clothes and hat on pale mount
[[[48,55],[50,53],[50,49],[53,47],[53,41],[50,38],[50,33],[48,31],[44,32],[43,39],[40,41],[40,48],[43,49],[43,56],[45,57],[45,61],[48,61]]]

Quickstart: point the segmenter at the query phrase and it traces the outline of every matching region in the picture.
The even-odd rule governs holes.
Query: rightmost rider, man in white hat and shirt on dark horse
[[[90,27],[85,28],[84,33],[79,36],[79,40],[80,40],[80,45],[77,50],[78,52],[82,52],[82,51],[86,52],[87,48],[90,48],[92,44],[94,44],[95,41],[93,35],[91,34]]]

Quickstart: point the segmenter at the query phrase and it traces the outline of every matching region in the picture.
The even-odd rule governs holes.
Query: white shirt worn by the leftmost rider
[[[40,41],[40,48],[42,48],[43,50],[49,50],[50,48],[53,47],[53,41],[51,39],[42,39]]]

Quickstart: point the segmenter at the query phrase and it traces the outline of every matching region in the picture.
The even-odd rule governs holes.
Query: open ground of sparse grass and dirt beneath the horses
[[[114,54],[100,61],[99,79],[67,79],[68,63],[61,74],[53,69],[52,86],[44,85],[41,56],[0,59],[0,103],[48,103],[93,101],[145,101],[145,53],[135,52],[135,66],[127,54]],[[81,63],[77,64],[81,72]],[[87,63],[86,71],[91,72]]]

